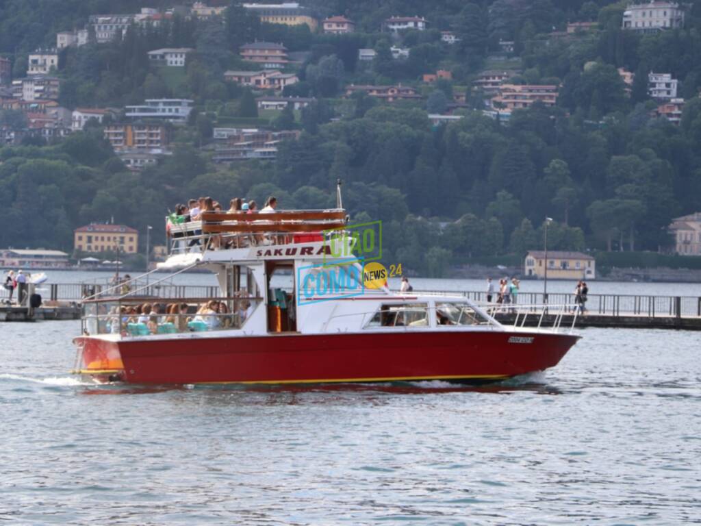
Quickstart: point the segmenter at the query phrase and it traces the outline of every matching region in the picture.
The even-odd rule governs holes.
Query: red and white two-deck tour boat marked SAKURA
[[[352,248],[346,221],[336,208],[172,225],[168,278],[83,301],[76,372],[133,384],[485,382],[553,367],[579,339],[502,325],[463,296],[366,286],[370,264],[334,253],[339,239]],[[217,276],[214,295],[154,286],[193,268]]]

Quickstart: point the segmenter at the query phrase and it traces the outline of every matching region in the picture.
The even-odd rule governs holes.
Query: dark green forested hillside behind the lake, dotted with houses
[[[210,2],[211,5],[216,2]],[[334,203],[344,182],[353,220],[383,220],[386,258],[421,274],[442,275],[468,257],[563,250],[663,250],[672,217],[701,210],[701,1],[687,2],[683,29],[621,29],[627,2],[605,0],[308,0],[305,6],[357,23],[353,34],[261,23],[238,5],[221,17],[175,15],[125,38],[60,53],[62,107],[114,107],[145,98],[184,97],[196,111],[175,126],[172,156],[138,172],[125,168],[96,123],[46,143],[32,137],[0,147],[0,195],[6,220],[0,246],[72,249],[72,231],[114,217],[154,235],[175,203],[212,196],[282,208]],[[161,0],[149,7],[165,9]],[[0,55],[24,76],[27,54],[55,46],[55,33],[83,27],[95,13],[135,13],[132,0],[0,0]],[[391,15],[425,16],[426,31],[381,32]],[[565,34],[567,22],[596,22]],[[441,30],[459,41],[441,41]],[[565,34],[565,36],[563,36]],[[306,52],[300,82],[284,95],[315,97],[301,112],[261,114],[247,88],[224,81],[228,69],[254,69],[238,48],[254,40]],[[503,53],[500,41],[513,41]],[[395,60],[390,46],[410,50]],[[195,49],[182,74],[149,64],[154,48]],[[372,48],[372,62],[358,60]],[[632,86],[618,68],[634,73]],[[423,74],[451,72],[431,85]],[[510,82],[559,86],[557,104],[515,109],[508,122],[484,114],[472,81],[485,69],[513,71]],[[648,73],[679,79],[680,123],[658,116]],[[415,86],[423,99],[388,104],[344,97],[350,84]],[[463,119],[435,125],[428,113]],[[428,110],[428,111],[427,111]],[[0,126],[22,116],[0,111]],[[275,161],[212,162],[212,129],[243,125],[302,131],[278,147]],[[391,260],[391,261],[390,261]]]

